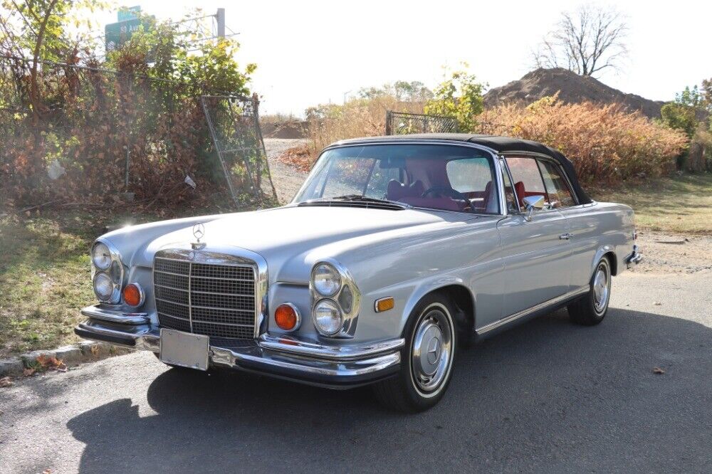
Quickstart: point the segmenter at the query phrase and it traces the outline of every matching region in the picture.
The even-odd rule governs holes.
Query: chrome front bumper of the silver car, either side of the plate
[[[97,307],[82,310],[89,320],[75,327],[85,339],[151,352],[160,351],[159,327],[150,323],[124,324],[93,317]],[[400,367],[404,339],[370,344],[327,346],[286,337],[262,335],[210,346],[212,366],[256,372],[306,384],[348,389],[395,374]]]

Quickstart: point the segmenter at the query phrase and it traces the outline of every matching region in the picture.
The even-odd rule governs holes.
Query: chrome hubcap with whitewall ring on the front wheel
[[[412,371],[420,390],[434,391],[449,372],[452,358],[451,333],[449,318],[440,309],[429,310],[415,330]]]

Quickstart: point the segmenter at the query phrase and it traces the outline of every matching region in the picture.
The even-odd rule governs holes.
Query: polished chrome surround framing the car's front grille
[[[159,255],[160,254],[160,255]],[[166,257],[168,256],[168,257]],[[205,263],[209,265],[249,265],[255,272],[255,330],[254,338],[257,339],[267,332],[269,319],[268,307],[268,268],[267,260],[260,254],[248,251],[245,248],[236,248],[234,253],[219,253],[212,251],[191,250],[186,248],[162,248],[153,256],[151,267],[151,281],[155,282],[155,259],[177,260],[188,263]],[[154,305],[156,292],[153,292]],[[189,303],[190,304],[190,303]],[[191,321],[192,331],[192,321]]]

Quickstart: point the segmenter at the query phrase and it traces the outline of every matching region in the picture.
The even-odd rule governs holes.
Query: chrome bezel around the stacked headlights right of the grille
[[[317,285],[315,285],[315,275],[318,273],[318,268],[322,265],[332,268],[335,274],[338,275],[339,285],[337,286],[337,290],[331,294],[321,293],[316,288]],[[311,293],[312,322],[317,332],[325,337],[354,337],[361,306],[361,292],[349,271],[333,258],[319,260],[312,267],[309,290]],[[333,332],[325,330],[317,323],[316,307],[325,301],[335,305],[341,313],[341,325],[338,330]]]

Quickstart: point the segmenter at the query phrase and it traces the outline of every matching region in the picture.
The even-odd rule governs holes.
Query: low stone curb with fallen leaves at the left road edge
[[[105,342],[80,341],[57,349],[43,349],[0,359],[0,376],[21,375],[23,370],[41,355],[61,359],[68,367],[83,362],[94,362],[115,355],[129,354],[131,349],[112,346]]]

